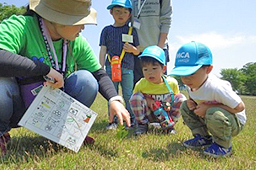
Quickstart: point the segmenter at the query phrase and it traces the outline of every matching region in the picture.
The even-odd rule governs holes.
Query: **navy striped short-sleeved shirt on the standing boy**
[[[128,34],[129,27],[124,25],[122,27],[114,27],[112,25],[103,28],[100,35],[100,46],[106,46],[107,54],[110,56],[118,55],[120,56],[124,42],[122,42],[122,34]],[[134,47],[139,46],[138,34],[135,29],[132,29],[133,43]],[[109,66],[110,62],[107,58],[106,66]],[[133,53],[125,53],[122,61],[122,67],[133,70],[134,68],[134,55]]]

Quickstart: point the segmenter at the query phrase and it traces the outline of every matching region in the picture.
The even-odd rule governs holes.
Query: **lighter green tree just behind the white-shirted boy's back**
[[[239,94],[245,92],[244,82],[246,81],[246,76],[237,68],[221,69],[222,75],[221,79],[227,80],[231,83],[233,90],[237,91]]]

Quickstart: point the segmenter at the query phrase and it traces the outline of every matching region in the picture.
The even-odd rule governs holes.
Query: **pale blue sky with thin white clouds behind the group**
[[[27,5],[29,0],[0,0],[0,3]],[[92,0],[97,10],[97,26],[87,25],[82,32],[95,54],[99,56],[101,30],[113,24],[106,6],[111,0]],[[221,69],[242,68],[256,62],[256,1],[255,0],[172,0],[173,15],[168,34],[171,62],[174,67],[177,50],[185,43],[199,41],[213,54],[213,74]],[[168,72],[169,72],[168,71]]]

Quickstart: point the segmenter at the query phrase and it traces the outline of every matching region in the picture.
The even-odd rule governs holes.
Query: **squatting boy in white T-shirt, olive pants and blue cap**
[[[180,111],[194,138],[183,142],[184,146],[208,146],[204,154],[216,158],[231,154],[231,138],[242,130],[246,115],[230,83],[211,75],[212,69],[210,49],[192,41],[178,50],[170,75],[180,76],[188,86],[189,99]]]

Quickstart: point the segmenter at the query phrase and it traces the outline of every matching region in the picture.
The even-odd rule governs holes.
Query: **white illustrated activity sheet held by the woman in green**
[[[97,115],[60,89],[44,86],[18,124],[78,152]]]

